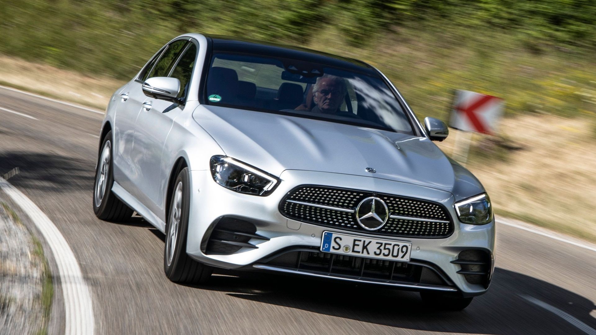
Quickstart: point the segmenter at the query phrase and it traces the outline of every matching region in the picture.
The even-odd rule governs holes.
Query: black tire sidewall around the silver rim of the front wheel
[[[182,181],[182,210],[180,222],[178,224],[178,234],[176,235],[176,246],[174,248],[174,255],[170,265],[167,265],[167,240],[163,248],[163,269],[166,272],[166,276],[168,278],[179,277],[184,268],[184,265],[181,263],[188,261],[188,256],[186,254],[188,215],[190,212],[190,176],[188,175],[188,168],[184,168],[178,173],[178,178],[176,178],[176,181],[172,187],[172,194],[170,194],[170,206],[167,213],[166,239],[169,234],[169,230],[172,228],[172,225],[170,225],[170,222],[172,221],[172,202],[174,199],[174,193],[176,192],[176,186],[180,181]]]

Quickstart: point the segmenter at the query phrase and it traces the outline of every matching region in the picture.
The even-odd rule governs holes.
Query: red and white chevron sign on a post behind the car
[[[505,101],[492,95],[458,89],[449,126],[461,131],[495,134]]]

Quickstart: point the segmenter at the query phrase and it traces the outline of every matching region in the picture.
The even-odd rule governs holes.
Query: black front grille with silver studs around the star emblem
[[[448,237],[453,232],[451,216],[441,204],[370,191],[304,185],[284,197],[280,211],[290,219],[310,224],[367,231],[356,221],[354,211],[360,201],[373,196],[385,201],[390,215],[406,217],[389,218],[375,234],[437,238]]]

